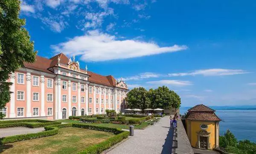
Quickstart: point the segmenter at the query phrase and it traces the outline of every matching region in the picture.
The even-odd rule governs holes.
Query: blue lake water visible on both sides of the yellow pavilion
[[[184,114],[188,108],[181,108]],[[220,122],[220,135],[229,129],[238,140],[249,139],[256,142],[256,110],[216,110]]]

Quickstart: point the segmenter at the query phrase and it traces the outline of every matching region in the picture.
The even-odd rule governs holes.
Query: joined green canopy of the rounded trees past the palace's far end
[[[168,87],[146,90],[143,87],[130,90],[126,97],[128,108],[178,108],[180,107],[180,96]]]

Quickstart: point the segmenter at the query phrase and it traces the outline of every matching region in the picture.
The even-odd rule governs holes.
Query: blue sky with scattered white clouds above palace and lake
[[[22,0],[20,17],[40,56],[165,85],[183,107],[256,105],[255,0]]]

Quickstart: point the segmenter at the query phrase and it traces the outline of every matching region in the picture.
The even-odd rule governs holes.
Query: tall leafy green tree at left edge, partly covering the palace
[[[19,14],[20,0],[0,0],[0,108],[10,101],[10,73],[23,67],[23,62],[35,61],[34,43]]]

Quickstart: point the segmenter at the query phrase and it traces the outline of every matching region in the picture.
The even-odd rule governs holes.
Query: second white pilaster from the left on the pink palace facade
[[[26,73],[26,117],[31,117],[31,74]]]

